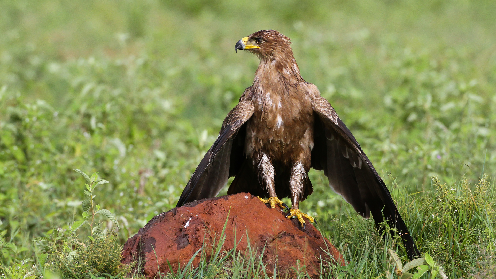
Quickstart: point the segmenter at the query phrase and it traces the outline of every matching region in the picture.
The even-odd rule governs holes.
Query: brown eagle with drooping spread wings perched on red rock
[[[290,39],[275,30],[257,31],[236,43],[260,63],[253,85],[225,118],[179,198],[177,207],[219,194],[250,193],[272,208],[288,209],[303,229],[299,203],[312,194],[308,172],[323,170],[329,186],[363,217],[383,216],[403,239],[410,258],[420,255],[382,179],[355,137],[317,86],[300,75]],[[260,197],[267,197],[264,200]],[[280,199],[291,198],[291,209]]]

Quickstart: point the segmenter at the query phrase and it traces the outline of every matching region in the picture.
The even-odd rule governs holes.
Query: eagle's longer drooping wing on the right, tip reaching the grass
[[[316,116],[311,167],[323,170],[329,186],[360,215],[369,218],[372,211],[377,227],[384,215],[401,234],[408,256],[420,256],[389,190],[350,130],[326,99],[316,97],[312,107]]]

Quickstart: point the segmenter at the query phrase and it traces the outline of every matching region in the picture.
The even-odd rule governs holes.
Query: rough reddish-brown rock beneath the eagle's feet
[[[277,206],[268,208],[247,193],[195,201],[153,217],[124,244],[123,263],[141,259],[141,272],[148,278],[157,276],[158,265],[160,272],[167,273],[167,261],[176,272],[178,264],[184,267],[204,241],[209,244],[219,239],[228,217],[224,250],[234,248],[236,242],[236,250],[245,253],[248,235],[252,251],[260,254],[265,248],[262,260],[268,274],[272,274],[276,262],[277,273],[284,275],[300,260],[315,278],[320,270],[319,258],[329,260],[329,255],[335,259],[329,262],[344,265],[336,248],[309,221],[303,231],[296,218],[285,218]],[[210,251],[202,250],[207,256]],[[200,254],[193,265],[197,266],[199,260]]]

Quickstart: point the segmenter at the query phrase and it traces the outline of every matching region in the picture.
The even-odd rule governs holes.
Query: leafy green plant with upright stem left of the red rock
[[[33,239],[33,242],[48,242],[42,248],[43,254],[38,256],[39,265],[44,270],[47,257],[50,255],[51,271],[60,272],[62,278],[123,278],[130,266],[121,264],[121,247],[116,241],[113,231],[106,233],[97,221],[97,215],[103,215],[118,227],[116,218],[108,209],[100,209],[95,203],[95,189],[109,181],[98,178],[98,172],[88,176],[79,169],[74,169],[81,174],[89,184],[85,184],[84,194],[86,199],[81,203],[83,220],[75,221],[70,229],[54,228],[47,236]],[[75,231],[87,227],[90,235],[87,240],[78,239]],[[43,272],[42,272],[43,274]]]

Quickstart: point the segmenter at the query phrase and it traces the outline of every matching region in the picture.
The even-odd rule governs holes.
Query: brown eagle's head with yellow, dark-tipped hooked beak
[[[248,50],[262,60],[293,57],[288,37],[275,30],[257,31],[236,43],[236,51]]]

